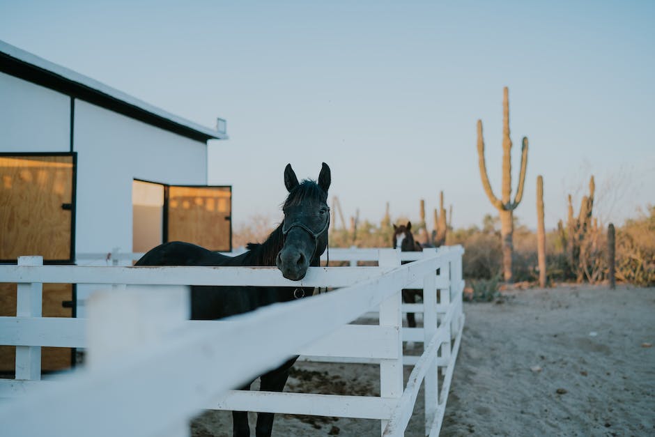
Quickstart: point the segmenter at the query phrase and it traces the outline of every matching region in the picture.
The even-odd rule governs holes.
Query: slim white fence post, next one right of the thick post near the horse
[[[436,256],[436,249],[423,250],[424,258]],[[423,278],[423,344],[427,347],[437,332],[437,275],[436,268]],[[437,411],[439,378],[436,358],[428,365],[425,373],[425,431],[429,434]]]

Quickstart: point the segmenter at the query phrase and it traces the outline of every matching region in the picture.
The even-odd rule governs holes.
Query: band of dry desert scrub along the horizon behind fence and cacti
[[[396,220],[405,224],[406,218]],[[418,229],[418,222],[416,228]],[[414,226],[413,226],[414,228]],[[272,231],[268,217],[254,216],[233,232],[233,247],[264,240]],[[330,247],[392,247],[393,227],[363,221],[355,233],[348,229],[330,229]],[[415,238],[420,237],[415,233]],[[571,266],[564,231],[546,233],[546,271],[550,282],[599,283],[608,278],[607,232],[604,224],[594,224],[580,241],[579,263]],[[486,215],[482,226],[450,229],[447,245],[463,245],[463,276],[475,281],[480,299],[488,297],[490,287],[500,279],[502,252],[500,221]],[[536,233],[514,220],[514,280],[535,282],[539,277]],[[616,231],[616,277],[620,282],[638,286],[655,285],[655,206],[647,213],[627,220]],[[473,282],[472,282],[473,284]],[[493,288],[493,287],[492,287]],[[487,291],[485,291],[487,290]],[[478,298],[478,297],[476,297]]]

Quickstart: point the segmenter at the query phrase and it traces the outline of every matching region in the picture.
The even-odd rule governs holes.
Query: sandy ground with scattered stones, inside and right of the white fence
[[[442,436],[655,436],[655,289],[505,291],[464,312]],[[376,366],[294,369],[286,391],[379,393]],[[421,392],[406,436],[424,435],[422,411]],[[230,413],[192,434],[231,436]],[[273,435],[379,436],[380,422],[276,415]]]

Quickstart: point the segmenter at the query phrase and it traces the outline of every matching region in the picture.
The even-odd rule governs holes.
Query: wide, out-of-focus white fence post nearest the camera
[[[189,316],[185,286],[128,286],[93,293],[88,299],[88,369],[102,371],[141,346],[166,341]],[[187,420],[171,423],[163,417],[159,426],[157,431],[153,427],[157,436],[190,436]]]

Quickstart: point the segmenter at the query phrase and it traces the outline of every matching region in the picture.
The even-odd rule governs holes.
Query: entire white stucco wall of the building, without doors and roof
[[[0,152],[69,152],[70,96],[0,73]],[[207,146],[75,100],[75,250],[132,251],[132,180],[206,185]],[[77,286],[78,316],[98,286]]]

